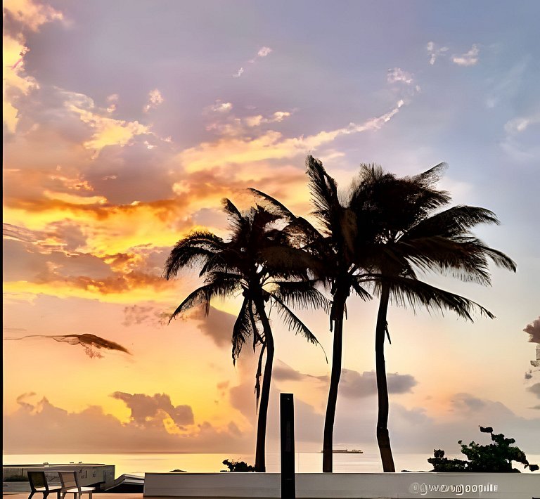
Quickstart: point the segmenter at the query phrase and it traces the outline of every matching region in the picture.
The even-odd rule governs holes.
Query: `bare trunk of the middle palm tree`
[[[334,321],[334,344],[332,351],[332,372],[330,373],[330,388],[328,389],[328,403],[324,417],[323,433],[323,473],[333,470],[333,434],[335,420],[335,406],[338,401],[338,385],[341,376],[341,356],[343,344],[343,311],[344,306],[337,306],[338,317]]]

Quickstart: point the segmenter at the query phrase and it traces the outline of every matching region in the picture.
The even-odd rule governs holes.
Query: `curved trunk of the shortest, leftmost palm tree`
[[[261,319],[266,344],[266,362],[264,363],[264,375],[262,376],[261,399],[259,403],[259,417],[257,420],[257,443],[255,444],[255,471],[266,472],[264,448],[266,447],[266,418],[268,415],[268,403],[270,398],[270,383],[272,379],[272,364],[274,363],[274,337],[270,328],[270,321],[264,310],[262,297],[254,300],[255,308]]]

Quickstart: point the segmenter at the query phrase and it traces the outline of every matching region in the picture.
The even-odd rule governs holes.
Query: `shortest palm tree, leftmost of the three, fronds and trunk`
[[[230,200],[224,200],[224,209],[232,228],[230,240],[225,241],[209,231],[187,235],[170,252],[164,275],[169,279],[176,276],[181,268],[199,266],[199,276],[204,277],[204,284],[181,302],[172,313],[171,320],[200,304],[205,306],[208,313],[213,297],[243,295],[243,303],[233,326],[232,357],[233,363],[236,363],[243,344],[250,337],[254,351],[260,346],[255,375],[255,393],[259,402],[255,471],[264,472],[266,415],[274,361],[274,335],[266,304],[275,306],[288,328],[313,344],[318,344],[316,337],[290,306],[324,308],[327,304],[323,295],[313,287],[307,271],[298,267],[295,261],[281,257],[287,240],[278,227],[278,214],[260,206],[252,207],[243,214]]]

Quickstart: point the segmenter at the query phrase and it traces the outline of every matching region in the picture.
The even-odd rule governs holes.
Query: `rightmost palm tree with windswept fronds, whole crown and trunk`
[[[448,309],[471,321],[473,309],[494,318],[475,302],[419,280],[416,271],[449,273],[483,285],[490,284],[489,260],[515,271],[515,263],[506,254],[488,247],[470,232],[479,223],[499,223],[493,212],[471,206],[436,211],[450,200],[446,192],[435,188],[444,166],[439,164],[423,174],[397,179],[380,168],[364,165],[351,199],[359,229],[371,231],[371,241],[364,247],[363,280],[373,281],[380,297],[375,328],[377,440],[385,472],[395,471],[388,434],[384,356],[385,338],[390,339],[387,328],[390,300],[413,308]]]

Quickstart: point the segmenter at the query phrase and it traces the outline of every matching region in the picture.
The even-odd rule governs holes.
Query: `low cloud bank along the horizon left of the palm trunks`
[[[252,432],[241,431],[232,420],[220,426],[198,423],[190,406],[174,406],[167,394],[115,392],[131,410],[127,423],[100,406],[70,412],[45,397],[31,403],[32,396],[19,396],[19,409],[4,415],[7,453],[238,453],[253,447]]]

